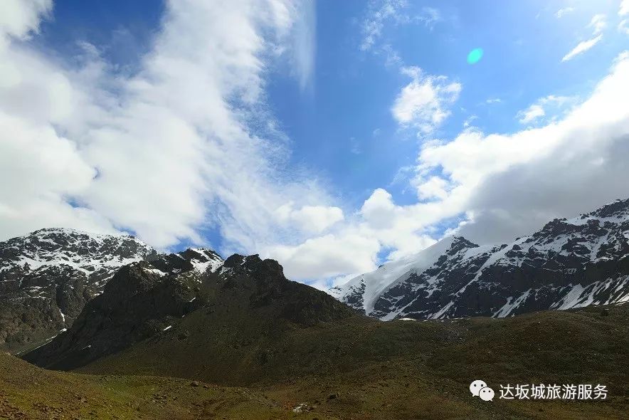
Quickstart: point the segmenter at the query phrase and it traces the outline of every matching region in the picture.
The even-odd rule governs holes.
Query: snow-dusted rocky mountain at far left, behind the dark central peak
[[[50,337],[70,327],[122,267],[149,261],[156,273],[214,271],[223,262],[207,248],[159,254],[128,235],[41,229],[0,242],[0,345]]]

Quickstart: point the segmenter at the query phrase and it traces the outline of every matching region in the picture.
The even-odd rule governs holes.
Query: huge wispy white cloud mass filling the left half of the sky
[[[133,74],[86,43],[83,57],[64,63],[16,41],[36,33],[51,2],[8,4],[0,17],[1,174],[11,179],[0,189],[2,237],[116,228],[169,246],[201,241],[199,229],[211,224],[239,251],[307,237],[310,226],[275,224],[275,209],[326,209],[330,199],[310,174],[282,174],[286,140],[264,103],[270,61],[286,56],[300,80],[309,77],[312,61],[290,56],[299,4],[169,2]]]

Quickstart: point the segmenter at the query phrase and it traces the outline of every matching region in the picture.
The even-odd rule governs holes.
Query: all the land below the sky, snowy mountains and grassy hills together
[[[341,300],[257,255],[158,253],[68,229],[11,239],[0,332],[22,360],[0,353],[0,417],[623,419],[627,207],[552,221],[506,246],[445,238],[351,280],[355,293],[334,291]],[[73,288],[78,313],[63,300]],[[537,311],[529,296],[540,290],[542,309],[566,310]],[[479,378],[494,401],[470,397]],[[499,399],[501,384],[517,383],[604,384],[608,397]]]

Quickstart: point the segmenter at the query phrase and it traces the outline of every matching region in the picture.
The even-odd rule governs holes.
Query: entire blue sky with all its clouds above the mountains
[[[508,241],[629,194],[627,1],[6,11],[6,238],[127,231],[260,253],[324,288],[446,234]]]

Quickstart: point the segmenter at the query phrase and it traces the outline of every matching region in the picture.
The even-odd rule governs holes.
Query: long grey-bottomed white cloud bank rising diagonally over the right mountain
[[[556,95],[539,100],[572,101]],[[412,184],[419,199],[430,201],[398,205],[388,191],[376,189],[334,234],[287,247],[285,258],[295,273],[307,267],[312,277],[323,273],[342,284],[346,273],[376,268],[378,251],[391,249],[393,260],[430,246],[435,224],[449,221],[447,234],[478,243],[510,241],[555,217],[629,196],[628,154],[629,52],[620,54],[587,100],[542,127],[511,134],[463,130],[450,142],[425,142]],[[332,252],[322,255],[322,248]],[[343,262],[331,269],[328,258],[336,253]]]

